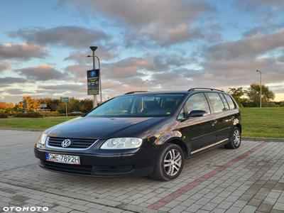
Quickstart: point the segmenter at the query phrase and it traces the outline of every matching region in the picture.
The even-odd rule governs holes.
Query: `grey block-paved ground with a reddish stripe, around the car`
[[[180,178],[86,178],[38,167],[39,132],[0,130],[0,212],[284,212],[284,143],[244,141],[185,163]]]

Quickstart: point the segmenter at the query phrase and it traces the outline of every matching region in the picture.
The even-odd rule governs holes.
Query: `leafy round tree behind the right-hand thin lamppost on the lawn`
[[[247,96],[249,97],[249,101],[252,102],[255,107],[259,107],[260,105],[260,94],[263,107],[266,107],[268,102],[273,100],[275,97],[275,94],[265,85],[260,86],[259,84],[251,84],[251,87],[248,89]]]

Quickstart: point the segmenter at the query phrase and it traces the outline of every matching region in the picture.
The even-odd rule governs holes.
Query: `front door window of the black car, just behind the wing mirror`
[[[187,107],[188,114],[190,114],[190,111],[192,110],[204,110],[210,114],[209,105],[203,93],[192,94],[185,105]]]

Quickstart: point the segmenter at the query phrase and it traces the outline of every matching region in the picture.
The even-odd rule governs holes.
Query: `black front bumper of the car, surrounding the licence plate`
[[[90,153],[70,153],[65,151],[45,151],[34,148],[35,157],[40,160],[40,167],[58,173],[87,175],[95,177],[147,176],[153,172],[154,151],[127,155],[99,155]],[[45,160],[46,153],[60,153],[80,156],[81,165],[53,163]]]

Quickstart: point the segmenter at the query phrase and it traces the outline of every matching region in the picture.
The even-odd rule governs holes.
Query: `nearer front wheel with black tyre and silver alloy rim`
[[[162,181],[178,178],[182,172],[184,161],[185,155],[182,148],[176,144],[167,143],[160,150],[150,178]]]

